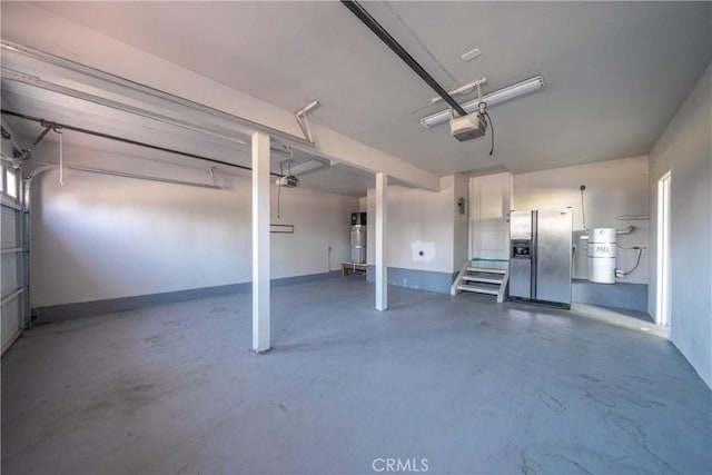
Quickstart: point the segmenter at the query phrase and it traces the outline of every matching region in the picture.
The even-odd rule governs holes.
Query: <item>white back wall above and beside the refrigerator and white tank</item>
[[[649,247],[647,220],[621,220],[619,216],[647,215],[647,157],[632,157],[574,167],[514,176],[514,209],[552,209],[571,207],[573,228],[582,230],[581,191],[585,185],[585,218],[589,228],[617,228],[635,226],[630,235],[620,235],[623,247]],[[574,277],[586,278],[585,245],[576,244]],[[650,249],[643,253],[641,264],[630,276],[619,281],[647,284]],[[630,270],[635,265],[636,250],[617,249],[616,268]]]

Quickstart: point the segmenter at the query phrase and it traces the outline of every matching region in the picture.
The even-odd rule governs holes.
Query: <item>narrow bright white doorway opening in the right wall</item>
[[[670,184],[668,171],[657,181],[657,301],[655,323],[670,326]]]

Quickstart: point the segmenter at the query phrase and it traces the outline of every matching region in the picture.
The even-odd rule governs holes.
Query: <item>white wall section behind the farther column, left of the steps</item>
[[[455,176],[441,178],[441,191],[402,186],[388,186],[388,225],[386,243],[386,264],[413,270],[453,273],[459,270],[462,263],[454,266],[454,243],[456,235],[455,186],[467,196],[467,181],[463,184]],[[368,190],[368,214],[375,216],[375,190]],[[467,215],[464,215],[465,229]],[[457,227],[457,232],[462,231]],[[367,263],[374,265],[375,232],[367,236]],[[466,238],[464,240],[466,254]],[[421,256],[421,251],[423,255]],[[462,250],[461,250],[462,253]]]

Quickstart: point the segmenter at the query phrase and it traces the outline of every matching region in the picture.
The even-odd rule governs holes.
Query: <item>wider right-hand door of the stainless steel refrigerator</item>
[[[571,305],[571,209],[538,210],[537,216],[534,298]]]

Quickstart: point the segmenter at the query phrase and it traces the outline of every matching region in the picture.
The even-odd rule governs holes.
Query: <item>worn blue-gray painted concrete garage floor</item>
[[[249,294],[37,326],[2,358],[2,473],[712,471],[712,394],[653,325],[389,294],[277,287],[266,355]]]

